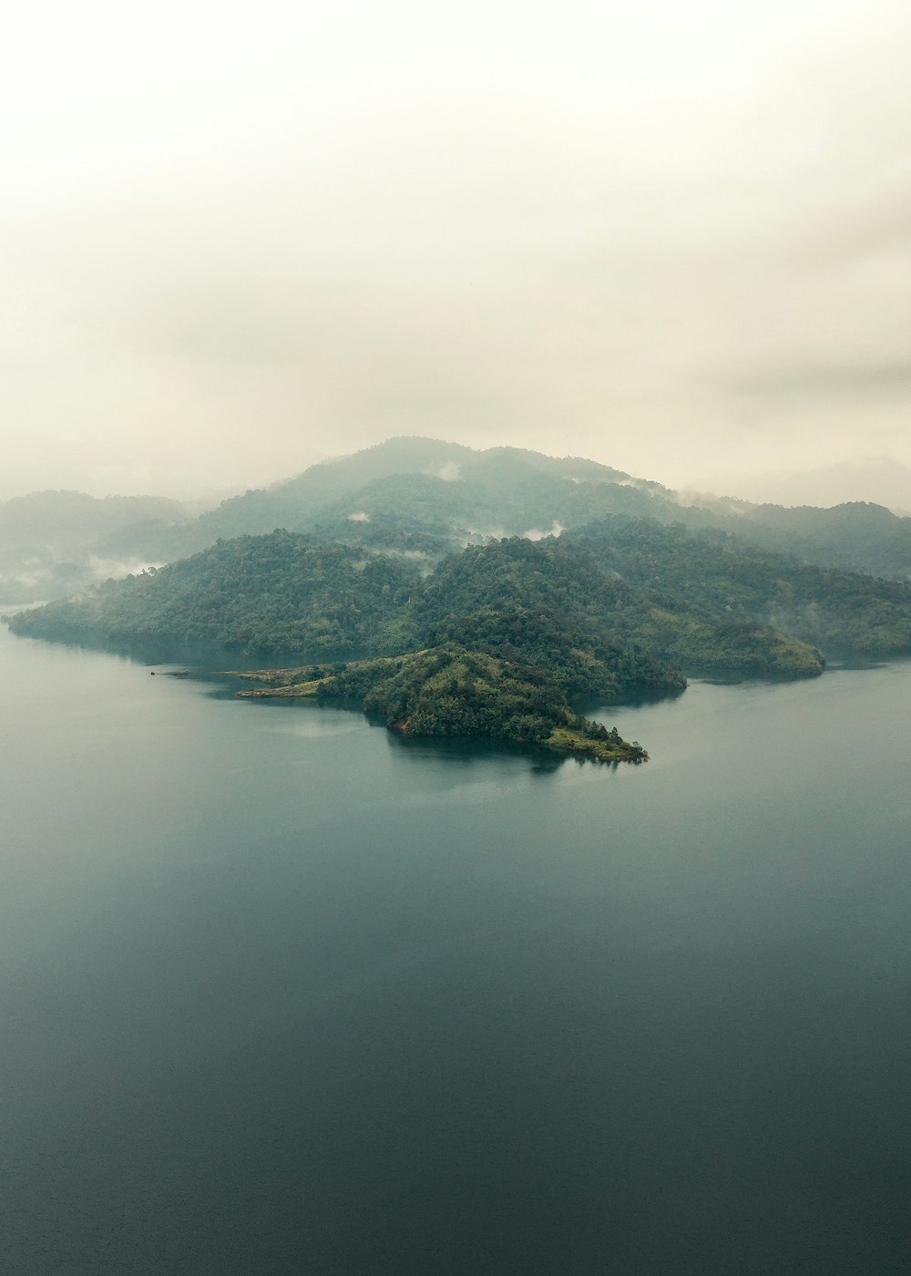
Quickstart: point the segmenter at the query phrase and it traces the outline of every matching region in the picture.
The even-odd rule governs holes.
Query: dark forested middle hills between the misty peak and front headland
[[[549,669],[572,695],[679,689],[679,669],[808,676],[817,647],[911,652],[911,590],[767,554],[717,531],[612,517],[468,546],[422,577],[402,558],[274,532],[9,620],[22,634],[276,649],[301,661],[441,643]]]

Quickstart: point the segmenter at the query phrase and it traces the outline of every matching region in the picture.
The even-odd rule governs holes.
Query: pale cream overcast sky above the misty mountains
[[[911,464],[903,0],[17,8],[0,499]]]

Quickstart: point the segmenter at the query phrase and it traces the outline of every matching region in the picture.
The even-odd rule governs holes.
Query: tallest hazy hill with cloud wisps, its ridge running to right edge
[[[171,528],[151,549],[158,558],[174,558],[218,537],[286,527],[373,550],[420,554],[431,565],[468,542],[537,537],[609,514],[716,527],[822,567],[911,575],[911,519],[882,505],[789,509],[709,495],[684,500],[661,484],[581,457],[521,448],[477,452],[421,438],[389,439],[235,496]]]

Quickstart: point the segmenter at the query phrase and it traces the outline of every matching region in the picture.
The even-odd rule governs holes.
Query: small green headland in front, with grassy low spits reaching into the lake
[[[538,745],[597,762],[644,762],[642,745],[575,713],[545,670],[455,643],[406,656],[237,676],[250,699],[341,701],[381,717],[402,738],[480,738]]]

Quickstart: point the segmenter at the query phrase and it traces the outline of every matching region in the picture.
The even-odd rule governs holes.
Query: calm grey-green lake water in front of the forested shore
[[[910,701],[546,766],[0,628],[0,1268],[906,1272]]]

